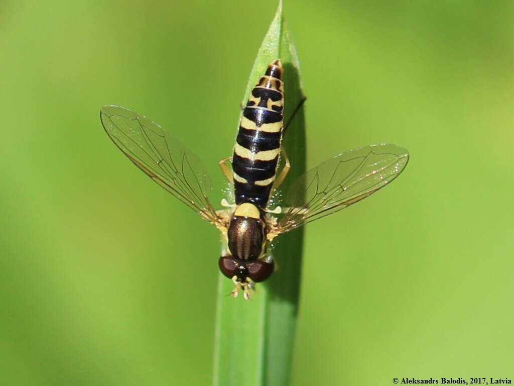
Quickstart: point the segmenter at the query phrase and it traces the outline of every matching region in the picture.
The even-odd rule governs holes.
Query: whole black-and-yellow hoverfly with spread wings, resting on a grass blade
[[[396,145],[372,145],[341,153],[307,171],[285,196],[287,207],[271,208],[270,197],[287,176],[290,164],[283,147],[284,69],[271,62],[252,89],[241,115],[232,156],[219,162],[233,185],[235,202],[222,200],[215,210],[204,167],[177,139],[151,120],[117,106],[101,109],[108,136],[142,171],[221,231],[227,249],[218,260],[232,279],[236,297],[274,271],[271,241],[310,221],[335,213],[394,180],[409,153]],[[296,110],[295,110],[296,111]],[[285,165],[278,172],[279,158]],[[226,165],[232,163],[232,171]]]

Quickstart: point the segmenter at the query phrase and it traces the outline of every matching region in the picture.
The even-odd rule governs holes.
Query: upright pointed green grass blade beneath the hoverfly
[[[303,99],[300,69],[282,15],[282,2],[259,49],[246,86],[243,103],[264,75],[268,64],[280,58],[284,67],[285,122]],[[285,146],[291,170],[281,186],[305,172],[304,108],[290,122]],[[251,301],[227,296],[233,283],[222,274],[218,281],[218,303],[214,347],[214,385],[287,385],[295,341],[303,249],[302,229],[277,238],[273,257],[279,269],[264,284],[256,285]]]

